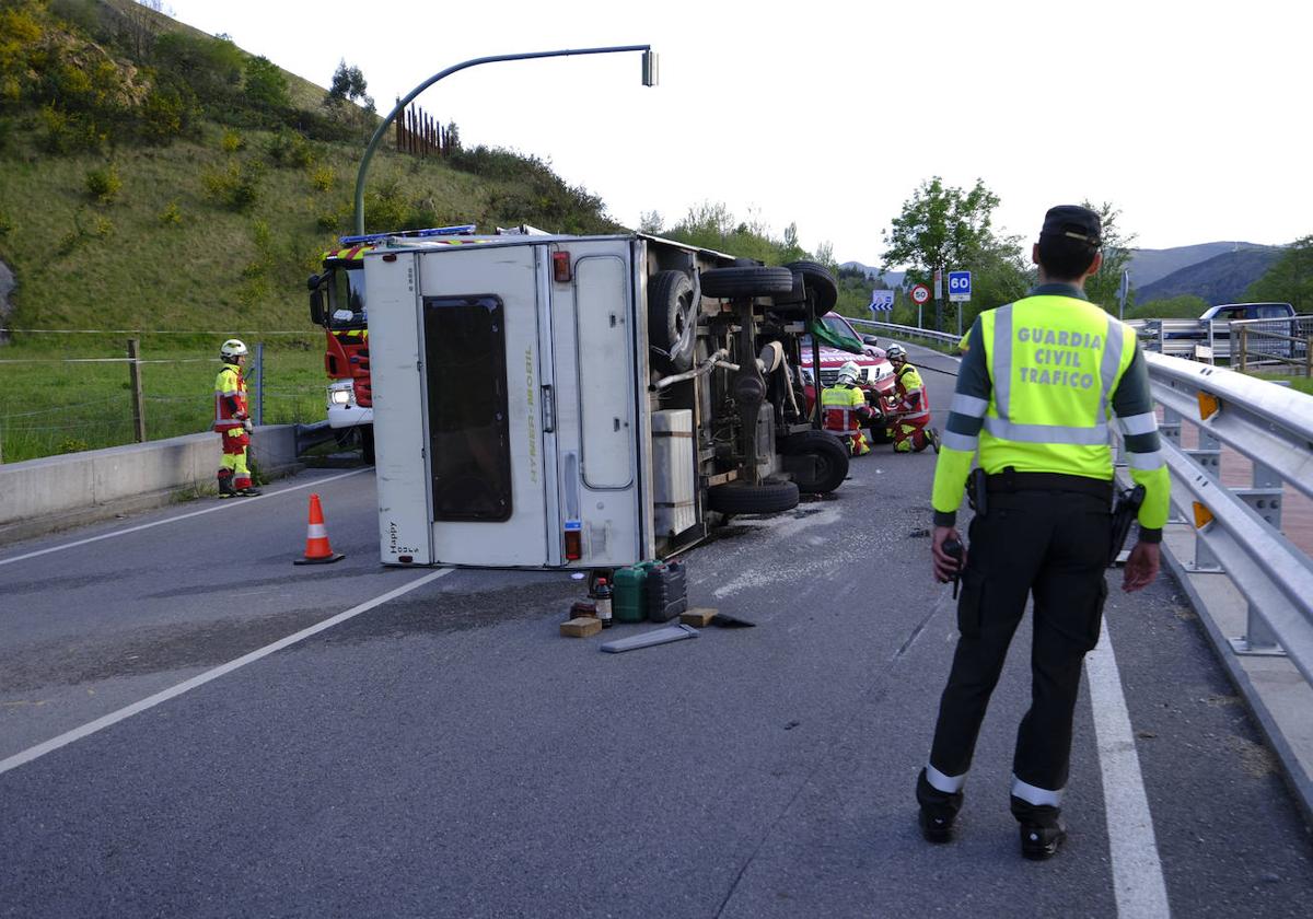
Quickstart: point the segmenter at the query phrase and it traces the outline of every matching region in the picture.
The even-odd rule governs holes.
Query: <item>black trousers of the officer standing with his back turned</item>
[[[1031,709],[1016,731],[1012,773],[1036,788],[1065,788],[1081,663],[1099,641],[1108,592],[1108,511],[1109,500],[1095,494],[990,488],[987,515],[973,519],[969,530],[957,604],[961,634],[930,754],[939,772],[962,776],[970,769],[985,709],[1033,593]],[[918,797],[953,811],[961,802],[961,794],[939,792],[924,777]],[[1037,823],[1057,815],[1056,807],[1032,807],[1015,797],[1012,810]]]

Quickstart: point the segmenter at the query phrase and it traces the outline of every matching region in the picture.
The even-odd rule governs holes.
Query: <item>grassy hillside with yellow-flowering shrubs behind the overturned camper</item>
[[[146,22],[154,56],[105,18],[118,8]],[[249,55],[130,0],[11,0],[0,16],[0,260],[17,281],[5,324],[309,331],[305,278],[352,228],[377,117],[326,109],[324,89],[286,74],[286,95],[256,104]],[[192,67],[186,85],[163,63]],[[540,160],[483,147],[441,161],[385,146],[366,217],[370,230],[618,228]]]

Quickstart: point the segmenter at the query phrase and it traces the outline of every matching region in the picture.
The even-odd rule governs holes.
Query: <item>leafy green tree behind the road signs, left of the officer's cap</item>
[[[930,284],[935,269],[970,270],[972,299],[962,305],[962,327],[982,309],[1001,306],[1025,293],[1027,268],[1018,236],[993,231],[998,196],[979,179],[969,190],[945,188],[943,179],[922,182],[903,202],[893,228],[882,234],[888,247],[881,273],[906,267],[906,284]]]

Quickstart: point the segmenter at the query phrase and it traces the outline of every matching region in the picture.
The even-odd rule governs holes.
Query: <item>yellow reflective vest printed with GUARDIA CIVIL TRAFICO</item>
[[[1108,400],[1134,354],[1127,327],[1100,307],[1054,295],[986,311],[981,326],[993,383],[981,440],[986,471],[1015,465],[1111,477]],[[965,415],[977,408],[960,407]]]

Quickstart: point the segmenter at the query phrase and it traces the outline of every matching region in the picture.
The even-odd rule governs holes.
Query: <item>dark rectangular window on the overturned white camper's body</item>
[[[499,297],[425,297],[433,520],[509,520],[506,307]]]

